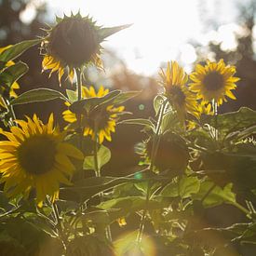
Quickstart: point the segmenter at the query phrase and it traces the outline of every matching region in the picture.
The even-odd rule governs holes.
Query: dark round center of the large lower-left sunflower
[[[21,168],[34,175],[46,173],[53,168],[55,154],[55,143],[46,135],[31,137],[18,148]]]

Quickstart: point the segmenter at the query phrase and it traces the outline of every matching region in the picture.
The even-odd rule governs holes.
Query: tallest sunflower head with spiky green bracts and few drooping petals
[[[107,36],[115,34],[127,26],[101,28],[91,18],[82,17],[80,13],[63,19],[57,17],[57,24],[47,31],[42,43],[45,51],[42,62],[43,70],[59,73],[59,80],[64,69],[69,69],[69,77],[73,79],[74,69],[89,64],[102,67],[101,42]]]

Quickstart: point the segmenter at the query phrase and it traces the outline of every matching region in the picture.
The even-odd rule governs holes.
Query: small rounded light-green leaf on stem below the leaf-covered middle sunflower
[[[104,166],[109,162],[111,158],[111,151],[107,147],[101,145],[97,156],[98,156],[98,168],[101,169],[102,166]],[[98,168],[95,168],[95,160],[93,155],[89,155],[85,158],[84,169],[96,170]]]

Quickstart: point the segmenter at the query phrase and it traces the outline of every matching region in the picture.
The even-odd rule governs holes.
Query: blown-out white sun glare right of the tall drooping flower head
[[[118,35],[112,36],[108,47],[126,61],[128,68],[141,74],[154,74],[162,62],[177,58],[182,54],[182,61],[194,60],[193,49],[183,45],[188,38],[196,36],[200,30],[197,16],[197,1],[181,0],[160,1],[52,1],[57,15],[63,12],[88,13],[104,26],[131,23],[132,26]],[[101,8],[99,8],[99,6]],[[61,9],[60,9],[61,7]],[[188,55],[188,56],[186,56]]]

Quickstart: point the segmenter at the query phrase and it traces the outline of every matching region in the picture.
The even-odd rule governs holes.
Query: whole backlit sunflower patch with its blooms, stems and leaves
[[[77,13],[57,17],[45,36],[0,48],[1,256],[256,251],[256,112],[218,112],[236,101],[236,66],[205,60],[186,74],[168,61],[151,102],[155,115],[133,118],[126,104],[140,91],[85,83],[89,67],[103,69],[101,43],[128,27],[101,27]],[[42,75],[75,89],[17,95],[29,70],[19,58],[30,47],[42,57]],[[65,106],[64,127],[53,114],[16,118],[18,105],[52,100]],[[107,145],[123,126],[141,128],[140,161],[127,175],[108,174]]]

